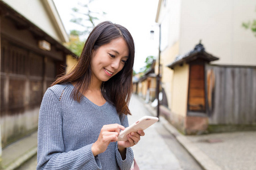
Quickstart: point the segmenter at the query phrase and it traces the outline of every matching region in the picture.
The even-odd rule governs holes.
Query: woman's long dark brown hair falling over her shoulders
[[[57,78],[52,83],[52,86],[67,82],[76,83],[72,97],[74,100],[80,102],[81,97],[83,97],[83,94],[88,90],[91,83],[92,70],[90,61],[92,59],[92,51],[97,50],[101,45],[108,44],[118,37],[122,37],[126,41],[129,48],[129,58],[119,73],[102,83],[101,92],[106,101],[115,105],[119,114],[131,114],[128,105],[131,93],[133,92],[132,78],[135,50],[133,37],[122,25],[113,24],[112,22],[98,24],[90,32],[77,65],[68,74]]]

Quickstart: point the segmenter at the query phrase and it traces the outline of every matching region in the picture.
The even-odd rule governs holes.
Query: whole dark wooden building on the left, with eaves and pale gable
[[[48,23],[42,25],[52,28],[52,35],[14,10],[11,2],[0,1],[2,147],[37,130],[44,92],[57,75],[64,73],[67,55],[75,56],[62,45],[68,39],[60,31],[63,25],[56,22],[60,21],[55,18],[59,16],[53,15],[56,13],[53,1],[31,1],[38,5],[33,15],[39,15],[36,10],[44,11],[38,18],[46,18]],[[18,3],[16,9],[22,4],[15,3]]]

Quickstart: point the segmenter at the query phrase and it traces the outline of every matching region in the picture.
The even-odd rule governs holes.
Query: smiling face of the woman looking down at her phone
[[[110,41],[93,51],[91,69],[93,82],[108,81],[125,66],[129,49],[122,37]]]

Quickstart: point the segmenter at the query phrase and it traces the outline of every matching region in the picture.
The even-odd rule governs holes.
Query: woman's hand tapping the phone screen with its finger
[[[102,126],[97,141],[92,145],[93,155],[96,156],[105,152],[110,142],[117,142],[120,130],[125,130],[125,127],[119,124]]]

